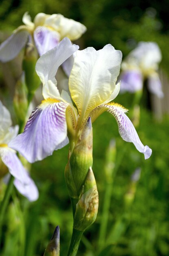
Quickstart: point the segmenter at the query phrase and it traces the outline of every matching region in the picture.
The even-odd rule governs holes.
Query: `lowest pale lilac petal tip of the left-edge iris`
[[[18,179],[15,179],[13,184],[22,195],[28,198],[30,202],[33,202],[38,199],[39,192],[38,192],[37,186],[35,185],[35,182],[29,177],[29,174],[27,175],[29,180],[27,184],[20,182],[20,180]]]

